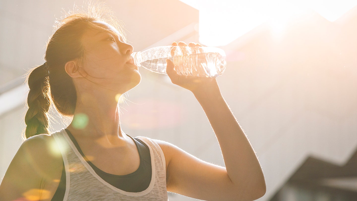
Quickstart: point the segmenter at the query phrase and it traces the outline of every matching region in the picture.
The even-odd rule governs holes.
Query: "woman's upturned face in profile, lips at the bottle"
[[[83,69],[90,83],[116,93],[125,93],[140,83],[138,67],[129,62],[133,47],[112,26],[96,21],[110,31],[88,29],[82,36]]]

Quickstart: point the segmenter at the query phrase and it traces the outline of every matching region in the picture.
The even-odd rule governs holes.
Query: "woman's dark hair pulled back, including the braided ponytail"
[[[73,116],[77,95],[72,78],[65,71],[65,64],[73,59],[83,60],[85,52],[81,37],[86,30],[110,31],[94,21],[102,21],[114,26],[125,38],[122,24],[115,18],[110,8],[104,4],[89,4],[88,8],[76,8],[61,20],[57,20],[55,32],[47,42],[46,62],[29,72],[27,77],[30,88],[27,97],[29,109],[25,115],[25,138],[49,133],[47,112],[51,102],[61,115]]]

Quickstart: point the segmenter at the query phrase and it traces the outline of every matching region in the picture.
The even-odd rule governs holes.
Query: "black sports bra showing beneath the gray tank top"
[[[65,131],[67,132],[68,136],[70,137],[71,141],[76,146],[82,157],[93,168],[95,173],[97,173],[97,175],[100,176],[104,181],[126,192],[141,192],[144,191],[147,187],[149,187],[151,181],[150,150],[149,147],[147,147],[147,145],[144,142],[142,142],[140,139],[132,138],[127,134],[127,136],[129,136],[131,139],[134,140],[136,144],[136,148],[139,152],[139,156],[140,156],[139,168],[135,172],[132,172],[128,175],[112,175],[100,170],[95,165],[93,165],[92,162],[87,160],[86,156],[83,154],[81,148],[79,147],[76,139],[72,136],[72,133],[67,129],[65,129]],[[61,180],[51,201],[63,201],[65,191],[66,191],[66,171],[63,163]]]

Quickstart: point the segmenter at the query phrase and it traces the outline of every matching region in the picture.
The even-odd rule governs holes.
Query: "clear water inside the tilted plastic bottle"
[[[178,74],[198,77],[217,77],[223,73],[226,65],[225,56],[219,53],[200,53],[169,59],[174,62]],[[140,65],[153,72],[166,74],[166,58],[146,60]]]

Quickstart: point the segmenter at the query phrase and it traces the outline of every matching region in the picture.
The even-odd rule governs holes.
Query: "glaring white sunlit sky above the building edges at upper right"
[[[200,11],[200,43],[223,46],[268,21],[277,32],[311,10],[333,22],[357,0],[180,0]]]

